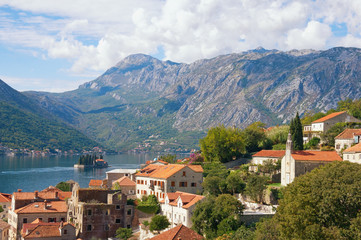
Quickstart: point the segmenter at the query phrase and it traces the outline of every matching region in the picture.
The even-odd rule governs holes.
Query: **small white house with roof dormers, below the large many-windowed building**
[[[178,224],[192,227],[193,210],[196,203],[203,199],[204,196],[191,193],[167,193],[165,199],[160,202],[161,214],[168,218],[171,227]]]

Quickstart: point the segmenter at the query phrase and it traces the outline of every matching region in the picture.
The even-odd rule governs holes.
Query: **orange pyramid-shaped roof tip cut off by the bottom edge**
[[[180,224],[168,231],[151,238],[151,240],[201,240],[204,239],[194,230]]]

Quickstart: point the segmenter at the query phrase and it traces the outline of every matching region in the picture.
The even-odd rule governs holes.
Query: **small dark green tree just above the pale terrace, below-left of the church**
[[[251,174],[247,178],[245,193],[253,201],[262,203],[263,191],[267,188],[268,177]]]

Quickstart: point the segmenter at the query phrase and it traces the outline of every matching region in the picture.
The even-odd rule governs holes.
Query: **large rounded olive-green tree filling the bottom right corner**
[[[275,215],[282,239],[357,239],[360,186],[361,165],[347,161],[297,177]]]

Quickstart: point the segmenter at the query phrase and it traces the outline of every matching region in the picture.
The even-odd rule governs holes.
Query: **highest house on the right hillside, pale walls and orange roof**
[[[361,120],[349,115],[346,111],[334,112],[317,119],[311,123],[311,125],[305,125],[303,127],[303,140],[308,142],[313,137],[321,138],[321,134],[327,132],[332,126],[340,122],[361,122]]]

